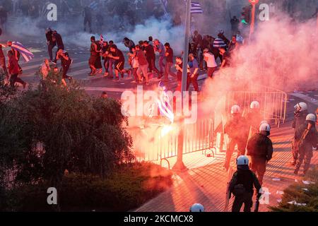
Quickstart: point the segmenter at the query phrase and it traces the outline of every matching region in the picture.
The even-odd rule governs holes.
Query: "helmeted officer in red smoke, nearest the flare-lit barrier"
[[[230,160],[232,153],[237,145],[237,155],[245,155],[246,147],[246,135],[245,133],[246,121],[241,115],[241,108],[238,105],[234,105],[231,108],[231,118],[224,126],[224,132],[228,134],[228,150],[226,150],[224,168],[228,170],[230,167]]]

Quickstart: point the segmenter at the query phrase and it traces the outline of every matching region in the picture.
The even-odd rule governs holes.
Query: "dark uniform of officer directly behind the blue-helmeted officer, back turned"
[[[263,184],[266,164],[273,155],[271,139],[261,133],[255,133],[247,142],[247,155],[251,157],[250,167],[257,174],[259,183]]]

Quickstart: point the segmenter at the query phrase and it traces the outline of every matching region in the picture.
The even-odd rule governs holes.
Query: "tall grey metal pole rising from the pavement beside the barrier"
[[[187,92],[187,70],[188,70],[188,55],[189,55],[189,32],[190,32],[190,19],[191,19],[191,0],[187,0],[186,18],[185,18],[185,32],[184,32],[184,51],[183,51],[183,67],[182,67],[182,85],[181,85],[181,97],[182,97],[182,114],[184,106],[184,95]],[[183,118],[183,117],[182,117]],[[177,162],[172,169],[177,171],[185,171],[183,163],[183,141],[184,141],[184,120],[180,121],[179,136],[178,136],[178,151]]]

